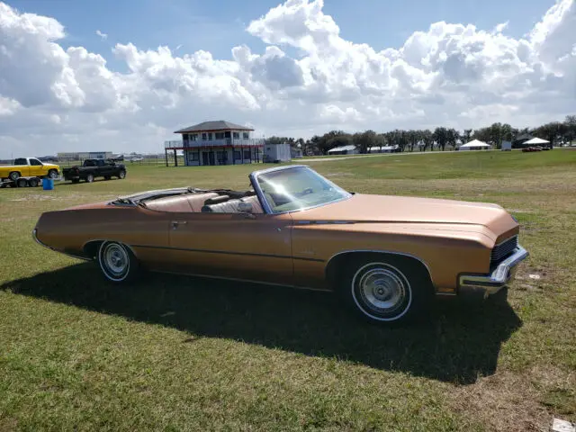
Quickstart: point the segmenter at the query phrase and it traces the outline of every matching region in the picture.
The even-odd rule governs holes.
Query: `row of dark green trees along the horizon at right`
[[[295,139],[293,137],[270,137],[266,141],[271,144],[289,143],[294,148],[302,148],[306,154],[328,154],[329,149],[354,146],[360,153],[367,153],[369,148],[397,146],[398,151],[442,151],[456,148],[459,144],[479,139],[490,144],[492,148],[501,148],[502,141],[514,141],[518,137],[531,135],[550,141],[553,145],[570,143],[576,139],[576,115],[568,115],[564,121],[552,121],[537,128],[517,129],[508,123],[494,123],[489,127],[477,130],[463,131],[453,128],[438,127],[435,130],[390,130],[377,133],[374,130],[347,133],[344,130],[330,130],[324,135],[314,135],[311,139]]]

